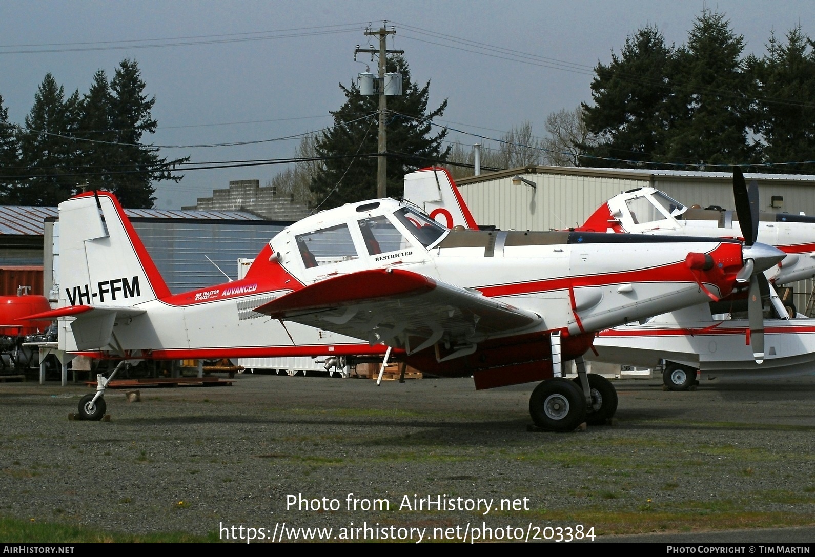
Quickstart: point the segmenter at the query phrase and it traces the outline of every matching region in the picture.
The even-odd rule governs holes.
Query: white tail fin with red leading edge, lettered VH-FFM
[[[121,308],[170,296],[116,197],[77,195],[59,204],[59,306]]]

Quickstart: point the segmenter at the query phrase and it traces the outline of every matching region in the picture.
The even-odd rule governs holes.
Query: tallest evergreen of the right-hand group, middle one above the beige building
[[[676,94],[684,113],[667,134],[671,160],[699,169],[754,160],[747,136],[756,90],[742,50],[744,37],[724,14],[705,10],[694,21],[688,45],[676,53]]]

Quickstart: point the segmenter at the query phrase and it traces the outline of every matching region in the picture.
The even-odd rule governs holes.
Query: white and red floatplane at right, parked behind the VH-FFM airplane
[[[708,305],[681,309],[601,331],[588,359],[650,368],[664,362],[663,382],[675,390],[695,384],[697,371],[749,377],[815,368],[815,320],[795,318],[795,305],[791,300],[782,303],[775,291],[775,286],[815,276],[815,217],[758,213],[757,184],[753,181],[747,188],[744,182],[741,171],[734,169],[738,213],[749,218],[739,219],[734,211],[687,208],[662,191],[643,187],[615,195],[576,229],[715,235],[743,238],[748,244],[758,239],[786,254],[777,266],[751,280],[747,318],[734,317],[732,302],[719,304],[712,313]],[[764,318],[762,298],[772,306],[773,317]]]

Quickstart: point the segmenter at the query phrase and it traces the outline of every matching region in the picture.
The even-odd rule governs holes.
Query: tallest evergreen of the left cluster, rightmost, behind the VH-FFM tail
[[[185,157],[168,162],[159,156],[157,147],[141,144],[143,135],[154,133],[157,125],[152,117],[156,98],[144,94],[146,87],[136,61],[122,60],[111,81],[110,117],[117,145],[108,151],[112,171],[109,189],[129,208],[151,208],[156,200],[152,182],[179,182],[183,176],[174,174],[173,166],[189,160]]]

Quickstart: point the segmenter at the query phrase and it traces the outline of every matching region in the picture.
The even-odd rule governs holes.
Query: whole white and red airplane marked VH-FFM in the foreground
[[[745,269],[734,240],[449,230],[384,199],[306,217],[245,278],[170,295],[113,195],[77,195],[59,221],[61,307],[33,317],[61,318],[61,349],[156,359],[393,349],[420,371],[472,375],[476,388],[543,380],[532,418],[561,431],[615,412],[607,380],[560,377],[595,331],[726,296]],[[766,252],[754,272],[783,257]],[[88,419],[104,413],[101,379],[81,402]]]

